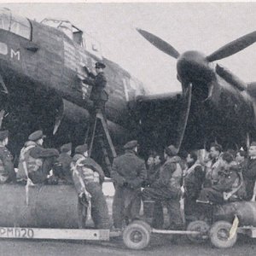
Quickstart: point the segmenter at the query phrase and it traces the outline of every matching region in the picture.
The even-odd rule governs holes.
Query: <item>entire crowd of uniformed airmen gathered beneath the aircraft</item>
[[[6,148],[8,136],[8,131],[0,131],[0,183],[73,184],[79,201],[79,228],[85,228],[89,203],[96,228],[110,228],[108,205],[102,192],[105,175],[102,167],[89,157],[86,144],[76,147],[72,157],[71,143],[61,146],[60,152],[44,148],[43,131],[34,131],[20,150],[15,170],[12,154]],[[137,141],[126,143],[125,153],[113,160],[115,230],[141,218],[157,229],[183,230],[186,222],[200,218],[201,203],[255,201],[254,142],[247,152],[223,152],[220,145],[212,143],[205,157],[194,151],[179,155],[177,148],[170,145],[163,155],[152,152],[146,163],[137,155],[138,146]],[[167,226],[163,207],[168,212]]]

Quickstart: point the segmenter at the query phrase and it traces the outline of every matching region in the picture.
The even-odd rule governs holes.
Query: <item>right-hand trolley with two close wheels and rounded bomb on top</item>
[[[188,225],[187,230],[200,232],[189,235],[190,241],[210,240],[214,247],[229,248],[236,244],[239,234],[256,238],[256,202],[236,201],[212,207],[210,221],[196,220]]]

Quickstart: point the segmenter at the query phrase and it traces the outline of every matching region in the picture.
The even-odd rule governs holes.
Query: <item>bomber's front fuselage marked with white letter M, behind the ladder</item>
[[[104,58],[95,39],[67,20],[38,23],[9,9],[1,10],[0,20],[0,102],[12,152],[19,154],[38,129],[51,146],[84,143],[93,106],[91,86],[83,83],[84,67],[92,71],[96,61],[106,64],[106,115],[113,142],[136,136],[129,102],[145,94],[143,84]]]

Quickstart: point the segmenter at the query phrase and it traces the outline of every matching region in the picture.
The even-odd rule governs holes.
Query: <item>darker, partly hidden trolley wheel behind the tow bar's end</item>
[[[200,235],[187,235],[189,241],[193,241],[195,243],[203,243],[208,239],[208,232],[210,230],[210,226],[202,220],[195,220],[189,223],[188,231],[199,231]]]

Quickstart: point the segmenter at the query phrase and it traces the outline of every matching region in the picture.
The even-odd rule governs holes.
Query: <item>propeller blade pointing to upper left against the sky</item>
[[[148,42],[153,44],[157,49],[160,49],[161,51],[166,53],[166,55],[170,55],[175,59],[178,58],[179,53],[176,49],[172,47],[171,44],[166,43],[166,41],[158,38],[157,36],[154,36],[149,32],[144,31],[143,29],[137,28],[137,32],[139,32],[143,36],[143,38],[146,38]]]

